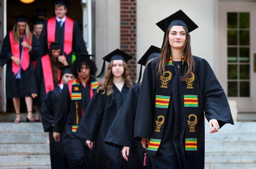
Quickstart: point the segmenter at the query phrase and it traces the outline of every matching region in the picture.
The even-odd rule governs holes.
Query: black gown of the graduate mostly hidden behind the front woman
[[[133,85],[130,88],[104,142],[119,149],[122,149],[124,145],[130,147],[128,160],[130,160],[132,169],[151,169],[150,157],[147,156],[147,166],[143,166],[145,149],[140,142],[133,139],[140,89],[141,84]]]

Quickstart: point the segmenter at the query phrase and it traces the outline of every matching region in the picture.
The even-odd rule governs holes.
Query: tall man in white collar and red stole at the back
[[[78,23],[66,16],[69,3],[67,0],[55,1],[56,17],[49,18],[45,22],[39,41],[42,44],[43,55],[47,53],[49,47],[45,42],[61,42],[63,54],[71,64],[73,53],[88,54],[88,52]]]

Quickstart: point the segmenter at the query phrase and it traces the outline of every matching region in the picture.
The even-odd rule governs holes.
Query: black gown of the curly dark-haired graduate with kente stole
[[[82,93],[82,106],[84,110],[90,102],[91,82],[89,81],[87,83],[86,88],[82,86],[83,85],[81,85],[80,90]],[[63,130],[65,131],[63,132],[64,134],[62,134],[61,139],[63,140],[64,150],[69,162],[69,168],[87,169],[89,165],[89,148],[84,138],[80,138],[72,132],[72,113],[75,112],[70,109],[70,104],[71,98],[69,86],[65,84],[56,108],[53,131],[58,133],[61,133]]]

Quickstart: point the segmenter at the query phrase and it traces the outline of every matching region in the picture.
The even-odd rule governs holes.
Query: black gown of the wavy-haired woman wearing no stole
[[[129,89],[124,84],[120,92],[113,84],[113,91],[111,96],[107,96],[106,93],[102,94],[103,90],[93,95],[76,131],[78,136],[92,142],[95,142],[98,136],[98,169],[130,168],[130,164],[122,157],[120,149],[104,143],[108,130]]]

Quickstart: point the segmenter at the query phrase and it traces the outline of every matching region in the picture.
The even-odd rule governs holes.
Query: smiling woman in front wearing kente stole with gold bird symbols
[[[228,100],[208,62],[191,54],[189,32],[198,26],[181,10],[157,25],[163,46],[143,75],[134,136],[153,169],[204,169],[204,112],[218,132],[234,124]]]

